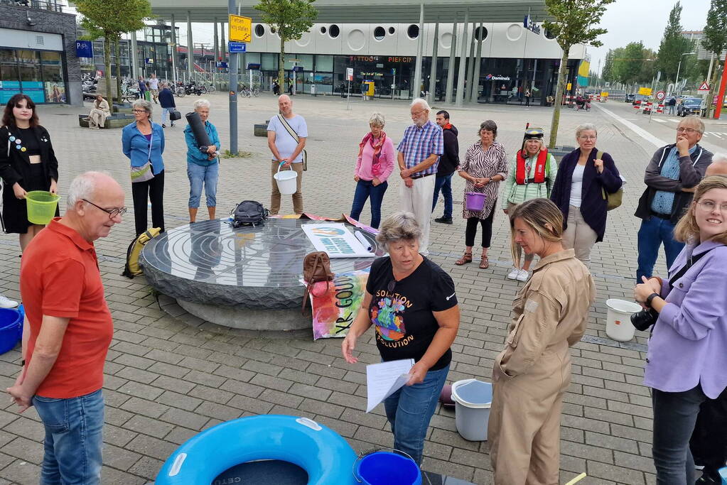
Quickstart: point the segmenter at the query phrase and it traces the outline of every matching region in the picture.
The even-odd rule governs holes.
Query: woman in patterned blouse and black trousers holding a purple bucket
[[[507,176],[507,155],[505,147],[495,141],[497,124],[492,120],[483,121],[478,131],[480,141],[467,149],[465,161],[459,164],[457,173],[467,182],[465,192],[480,192],[485,195],[485,203],[481,211],[468,211],[465,202],[462,217],[467,219],[465,231],[465,254],[455,264],[462,265],[472,262],[472,248],[475,245],[477,224],[482,226],[482,258],[480,268],[489,268],[487,250],[492,239],[492,220],[497,205],[497,189],[499,183]],[[467,197],[467,195],[465,195]]]

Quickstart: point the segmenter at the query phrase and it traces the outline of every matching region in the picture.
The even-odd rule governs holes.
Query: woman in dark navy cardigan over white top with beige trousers
[[[621,188],[621,176],[614,159],[606,152],[596,158],[598,131],[591,123],[576,129],[579,148],[563,157],[558,165],[550,200],[563,213],[563,247],[573,248],[576,257],[590,266],[590,252],[603,241],[606,232],[606,197]]]

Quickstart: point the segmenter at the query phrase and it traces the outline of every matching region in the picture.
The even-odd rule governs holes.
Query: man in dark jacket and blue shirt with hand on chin
[[[646,167],[646,190],[634,214],[642,219],[638,231],[638,282],[643,276],[651,277],[662,243],[667,269],[684,247],[674,239],[674,227],[691,203],[694,187],[712,163],[712,152],[698,144],[702,134],[702,120],[696,116],[684,118],[677,128],[677,142],[656,150]]]

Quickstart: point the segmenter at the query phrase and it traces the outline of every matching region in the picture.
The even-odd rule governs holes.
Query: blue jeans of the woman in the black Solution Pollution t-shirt
[[[394,433],[394,449],[407,453],[419,465],[422,463],[427,428],[437,409],[448,372],[449,365],[440,370],[430,370],[422,383],[403,386],[384,399],[386,417]]]

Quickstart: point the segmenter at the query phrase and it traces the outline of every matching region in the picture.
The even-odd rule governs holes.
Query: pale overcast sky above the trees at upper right
[[[591,56],[591,70],[598,68],[598,60],[606,57],[608,49],[623,47],[629,42],[643,41],[643,45],[654,51],[664,35],[669,12],[675,0],[616,0],[606,7],[601,17],[601,27],[608,33],[599,38],[601,47],[588,47]],[[707,23],[710,0],[682,0],[681,25],[684,30],[702,30]]]

